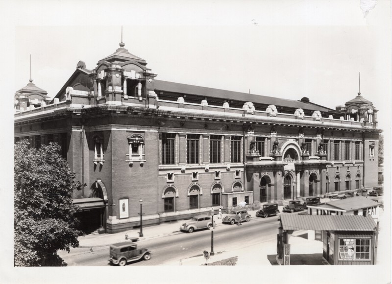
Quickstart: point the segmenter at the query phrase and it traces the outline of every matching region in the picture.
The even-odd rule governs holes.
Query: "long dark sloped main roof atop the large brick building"
[[[335,110],[319,106],[314,103],[306,103],[299,100],[291,100],[286,98],[276,98],[272,96],[265,95],[254,95],[240,92],[233,92],[227,90],[220,90],[214,88],[207,87],[199,87],[194,85],[187,85],[181,83],[174,83],[168,81],[154,80],[155,91],[164,91],[164,92],[173,92],[180,93],[186,95],[200,95],[206,97],[218,97],[222,99],[228,100],[239,100],[239,101],[251,101],[253,103],[267,104],[267,105],[275,105],[275,106],[287,106],[292,108],[302,108],[306,110],[316,111],[319,110],[321,112],[334,112]],[[208,101],[208,99],[207,99]]]

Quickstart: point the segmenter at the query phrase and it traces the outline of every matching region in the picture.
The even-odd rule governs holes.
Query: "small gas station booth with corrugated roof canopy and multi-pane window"
[[[371,216],[282,214],[279,220],[277,253],[285,265],[290,264],[285,250],[290,236],[302,230],[320,236],[322,257],[331,265],[376,264],[378,223]]]

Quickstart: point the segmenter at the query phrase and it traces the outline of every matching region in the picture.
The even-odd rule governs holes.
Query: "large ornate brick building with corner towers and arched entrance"
[[[358,93],[336,110],[300,100],[156,80],[120,43],[79,61],[52,101],[32,80],[15,94],[15,141],[58,142],[85,226],[119,232],[211,207],[257,208],[377,186],[377,111]]]

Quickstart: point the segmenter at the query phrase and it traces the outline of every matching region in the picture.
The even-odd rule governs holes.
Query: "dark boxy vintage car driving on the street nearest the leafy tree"
[[[137,248],[137,244],[129,241],[119,242],[110,245],[110,259],[111,264],[118,264],[124,266],[127,262],[140,260],[149,260],[151,258],[151,252],[143,247]]]

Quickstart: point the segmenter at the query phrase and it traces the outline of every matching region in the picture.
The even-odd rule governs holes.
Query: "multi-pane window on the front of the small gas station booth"
[[[370,260],[369,238],[340,238],[339,259],[341,260]]]

